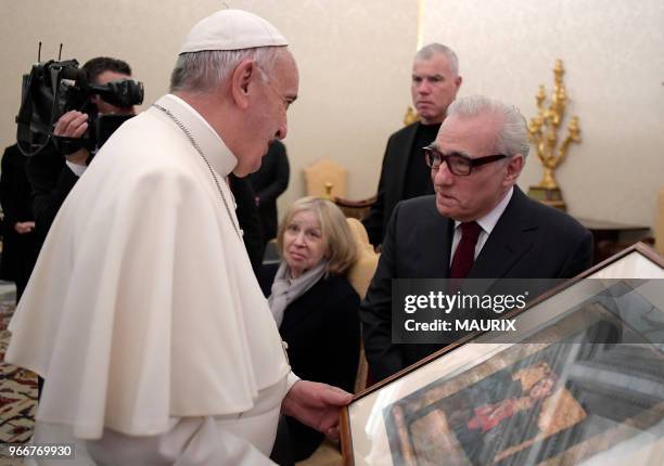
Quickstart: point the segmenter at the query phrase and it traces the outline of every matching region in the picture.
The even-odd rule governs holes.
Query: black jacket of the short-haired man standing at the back
[[[419,125],[419,122],[408,125],[387,140],[376,199],[367,218],[362,220],[369,234],[369,242],[375,246],[383,242],[392,211],[404,198],[408,159],[413,150]],[[422,194],[433,194],[433,192],[432,182],[422,186]]]

